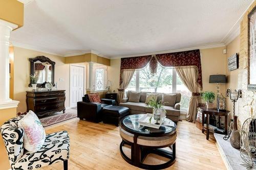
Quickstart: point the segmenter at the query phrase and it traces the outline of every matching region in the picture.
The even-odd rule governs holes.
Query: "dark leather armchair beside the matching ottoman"
[[[96,123],[102,121],[102,109],[115,105],[115,100],[112,99],[100,99],[101,103],[90,102],[87,94],[82,100],[82,102],[77,102],[77,117]]]

